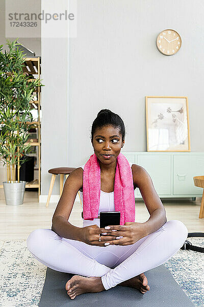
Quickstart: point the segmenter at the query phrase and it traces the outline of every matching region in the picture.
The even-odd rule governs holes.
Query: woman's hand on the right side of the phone
[[[124,225],[109,226],[107,236],[115,236],[115,240],[106,240],[106,235],[101,236],[101,241],[110,243],[110,245],[131,245],[137,242],[139,239],[146,236],[145,223],[126,222]],[[116,231],[113,231],[116,230]],[[121,238],[117,238],[122,236]]]

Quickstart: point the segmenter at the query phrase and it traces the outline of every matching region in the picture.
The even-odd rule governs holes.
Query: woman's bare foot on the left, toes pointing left
[[[106,290],[100,277],[72,276],[66,283],[65,289],[71,299],[87,292],[101,292]]]

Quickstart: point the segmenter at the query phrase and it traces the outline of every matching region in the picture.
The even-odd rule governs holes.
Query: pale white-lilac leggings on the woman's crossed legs
[[[96,224],[89,221],[89,225]],[[83,224],[83,227],[88,224]],[[99,226],[99,225],[98,225]],[[36,229],[27,239],[33,256],[50,269],[98,276],[106,290],[118,283],[156,268],[170,259],[188,236],[186,226],[177,220],[166,222],[159,230],[132,245],[88,245],[61,237],[51,229]]]

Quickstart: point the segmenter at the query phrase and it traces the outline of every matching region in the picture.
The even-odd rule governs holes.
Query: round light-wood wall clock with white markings
[[[181,48],[182,40],[174,30],[164,30],[157,36],[157,48],[165,55],[173,55]]]

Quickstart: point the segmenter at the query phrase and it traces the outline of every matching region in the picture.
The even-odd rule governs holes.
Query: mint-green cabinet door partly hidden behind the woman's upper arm
[[[149,173],[158,195],[171,194],[171,156],[138,155],[137,164],[144,167]],[[137,189],[137,195],[140,196],[140,190]]]

